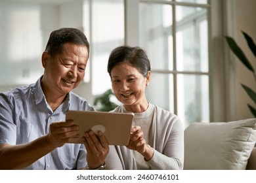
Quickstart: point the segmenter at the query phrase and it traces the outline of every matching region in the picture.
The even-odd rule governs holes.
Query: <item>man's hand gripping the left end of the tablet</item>
[[[50,124],[50,132],[47,135],[48,141],[55,147],[63,146],[65,143],[72,142],[78,137],[79,127],[73,121],[53,122]]]

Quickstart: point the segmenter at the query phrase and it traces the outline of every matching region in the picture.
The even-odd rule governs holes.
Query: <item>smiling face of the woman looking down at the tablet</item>
[[[150,80],[150,72],[145,78],[129,63],[119,63],[112,69],[111,76],[113,91],[121,103],[143,105],[146,101],[145,89]]]

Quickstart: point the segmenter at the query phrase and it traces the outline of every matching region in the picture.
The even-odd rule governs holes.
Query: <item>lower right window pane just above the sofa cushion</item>
[[[177,75],[178,116],[187,127],[209,122],[209,76]]]

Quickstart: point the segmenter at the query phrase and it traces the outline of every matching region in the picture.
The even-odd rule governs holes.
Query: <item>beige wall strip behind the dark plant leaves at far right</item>
[[[247,46],[247,42],[244,39],[241,31],[245,31],[248,35],[251,36],[253,41],[256,44],[256,1],[255,0],[236,0],[236,41],[241,46],[242,50],[244,50],[245,55],[253,65],[253,68],[256,71],[256,58],[251,53],[251,50]],[[242,65],[240,61],[238,61],[238,82],[249,86],[256,92],[256,80],[249,72],[247,68]],[[245,93],[244,89],[239,85],[238,88],[238,105],[240,108],[238,109],[238,119],[244,119],[253,117],[251,112],[249,112],[247,103],[256,108],[255,103],[251,99],[249,99],[247,93]]]

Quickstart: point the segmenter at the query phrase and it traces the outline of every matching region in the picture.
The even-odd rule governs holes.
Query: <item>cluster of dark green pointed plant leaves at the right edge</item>
[[[251,37],[249,35],[247,35],[247,33],[245,33],[244,31],[242,31],[242,33],[247,41],[247,44],[248,44],[251,52],[253,52],[253,54],[256,58],[256,46],[255,46],[255,43],[253,42],[253,39],[251,39]],[[239,58],[239,60],[245,65],[245,67],[247,69],[249,69],[249,71],[253,74],[253,76],[255,78],[255,82],[256,82],[255,69],[253,68],[253,66],[251,65],[251,63],[249,62],[247,57],[245,56],[242,49],[238,46],[238,44],[236,44],[236,41],[234,41],[234,39],[232,39],[232,37],[225,36],[225,39],[228,42],[228,46],[232,50],[232,52]],[[247,95],[249,95],[249,97],[253,100],[254,104],[256,104],[256,93],[248,86],[245,86],[244,84],[241,84],[241,85],[244,88]],[[253,114],[253,116],[255,116],[255,118],[256,118],[255,107],[253,107],[249,104],[247,104],[247,106],[249,107],[249,110],[251,110],[251,113]]]

